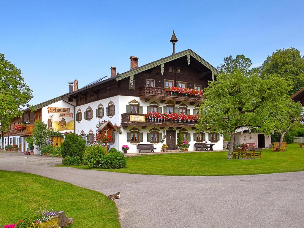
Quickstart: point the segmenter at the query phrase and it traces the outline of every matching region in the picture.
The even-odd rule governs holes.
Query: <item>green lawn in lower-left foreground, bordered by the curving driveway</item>
[[[76,227],[120,227],[115,203],[95,192],[34,174],[0,171],[0,226],[33,215],[39,208],[63,210]]]

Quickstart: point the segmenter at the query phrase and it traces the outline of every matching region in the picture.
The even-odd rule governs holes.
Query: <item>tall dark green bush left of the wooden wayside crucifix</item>
[[[65,140],[63,143],[61,143],[62,157],[78,156],[82,161],[84,151],[85,151],[85,140],[81,139],[81,136],[77,136],[72,132],[65,135]]]

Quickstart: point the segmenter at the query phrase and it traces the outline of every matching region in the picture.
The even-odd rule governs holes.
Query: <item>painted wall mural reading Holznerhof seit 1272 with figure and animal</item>
[[[54,131],[74,130],[73,112],[70,108],[48,107],[47,111],[51,113],[47,120],[47,127]]]

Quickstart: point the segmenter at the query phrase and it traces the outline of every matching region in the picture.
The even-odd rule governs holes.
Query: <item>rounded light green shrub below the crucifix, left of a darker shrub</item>
[[[98,168],[99,159],[105,155],[105,147],[93,145],[85,147],[84,162],[90,168]]]

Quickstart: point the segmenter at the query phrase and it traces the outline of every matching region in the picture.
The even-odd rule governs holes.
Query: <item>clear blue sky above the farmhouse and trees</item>
[[[279,48],[304,54],[303,1],[1,1],[0,53],[34,91],[32,105],[188,48],[213,66],[244,54],[261,65]]]

